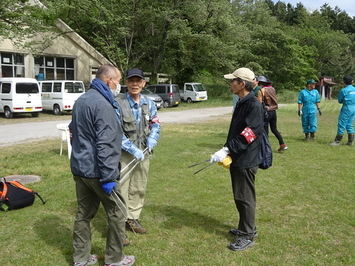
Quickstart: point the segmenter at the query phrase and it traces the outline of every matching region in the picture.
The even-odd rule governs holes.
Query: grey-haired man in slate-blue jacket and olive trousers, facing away
[[[73,231],[74,266],[92,265],[90,222],[100,202],[108,220],[105,266],[133,265],[134,256],[125,256],[125,217],[120,179],[122,128],[117,121],[113,92],[120,87],[121,73],[112,65],[101,66],[90,89],[76,100],[69,125],[72,134],[70,167],[76,184],[77,213]]]

